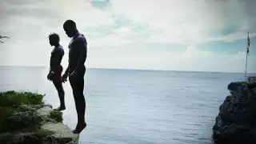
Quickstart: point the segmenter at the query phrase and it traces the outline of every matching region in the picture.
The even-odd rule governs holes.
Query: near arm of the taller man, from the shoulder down
[[[78,66],[81,66],[82,64],[84,64],[84,62],[86,62],[86,57],[87,57],[87,42],[86,42],[86,38],[80,38],[79,39],[79,44],[78,44],[78,50],[79,50],[79,59],[78,59],[78,64],[75,67],[74,71],[77,70]]]

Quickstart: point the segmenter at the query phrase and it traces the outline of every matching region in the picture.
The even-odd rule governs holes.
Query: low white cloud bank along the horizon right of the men
[[[129,46],[128,46],[129,47]],[[143,52],[143,54],[141,54]],[[256,72],[256,57],[248,57],[248,72]],[[244,72],[246,54],[214,54],[188,46],[182,53],[172,53],[152,47],[120,48],[117,50],[98,49],[90,51],[87,66],[102,68],[153,69],[153,70],[192,70]]]

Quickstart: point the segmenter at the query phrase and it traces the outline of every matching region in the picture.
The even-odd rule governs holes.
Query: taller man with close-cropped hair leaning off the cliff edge
[[[69,38],[72,38],[69,45],[69,65],[62,76],[62,81],[66,82],[69,77],[73,90],[75,107],[78,114],[78,123],[73,130],[74,134],[80,134],[86,128],[85,113],[86,100],[83,95],[84,76],[86,74],[87,42],[83,34],[78,32],[74,21],[67,20],[63,24],[63,29]]]

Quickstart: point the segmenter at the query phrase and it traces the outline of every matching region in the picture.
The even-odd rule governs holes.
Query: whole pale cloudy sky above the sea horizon
[[[49,66],[48,34],[68,62],[67,19],[88,42],[87,68],[256,73],[254,0],[0,0],[0,66]]]

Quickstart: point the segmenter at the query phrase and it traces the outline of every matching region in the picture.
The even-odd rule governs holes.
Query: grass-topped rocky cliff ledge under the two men
[[[43,97],[30,92],[0,93],[1,144],[78,143],[78,134],[62,123],[62,112],[46,105]]]

